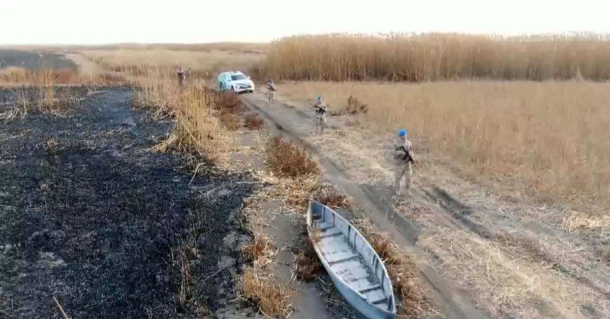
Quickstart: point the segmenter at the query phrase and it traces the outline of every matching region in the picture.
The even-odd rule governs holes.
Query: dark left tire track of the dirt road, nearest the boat
[[[310,117],[304,112],[296,112],[292,110],[292,114],[288,116],[281,116],[279,114],[272,114],[265,109],[267,102],[262,101],[256,96],[245,96],[244,98],[246,106],[252,109],[254,112],[264,116],[269,121],[274,129],[279,134],[284,135],[293,142],[306,148],[309,152],[318,157],[320,165],[325,168],[326,174],[333,177],[333,180],[344,188],[360,206],[370,213],[371,220],[373,220],[382,229],[386,229],[393,238],[397,241],[398,245],[407,248],[410,253],[415,256],[422,256],[420,249],[415,247],[417,242],[417,227],[406,220],[401,215],[395,213],[390,204],[389,200],[384,198],[377,190],[368,186],[361,186],[351,182],[345,174],[340,165],[333,162],[331,159],[323,156],[320,149],[311,143],[307,143],[303,140],[303,135],[292,129],[291,127],[295,122],[307,120],[310,121]],[[287,112],[286,110],[284,110]],[[291,123],[292,121],[292,123]],[[451,223],[445,219],[443,223],[450,223],[453,228],[458,227],[455,223]],[[476,318],[489,318],[488,315],[483,314],[476,306],[459,292],[458,289],[451,287],[447,281],[445,281],[440,274],[434,270],[427,263],[420,264],[420,272],[432,287],[432,295],[434,297],[434,306],[442,310],[445,315],[451,318],[464,318],[464,319],[476,319]]]

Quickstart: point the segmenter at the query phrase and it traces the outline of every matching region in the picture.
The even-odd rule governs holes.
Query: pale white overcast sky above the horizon
[[[610,33],[610,1],[0,0],[0,44],[266,42],[295,34]]]

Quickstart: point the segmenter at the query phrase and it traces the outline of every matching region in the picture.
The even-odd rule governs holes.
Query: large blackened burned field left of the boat
[[[213,170],[190,184],[183,157],[149,151],[171,123],[131,96],[0,124],[0,317],[55,318],[56,297],[73,318],[194,318],[234,297],[242,257],[220,248],[244,237],[251,184]]]

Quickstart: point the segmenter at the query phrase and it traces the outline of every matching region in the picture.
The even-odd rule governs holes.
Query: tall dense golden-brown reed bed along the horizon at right
[[[595,37],[426,34],[295,36],[274,41],[275,79],[439,81],[610,79],[610,41]]]

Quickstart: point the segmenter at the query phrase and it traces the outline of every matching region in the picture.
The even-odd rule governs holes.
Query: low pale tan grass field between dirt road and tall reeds
[[[546,200],[610,199],[610,84],[299,82],[279,91],[300,101],[321,94],[337,108],[357,95],[371,128],[390,138],[406,127],[416,152],[443,154],[473,177]]]

